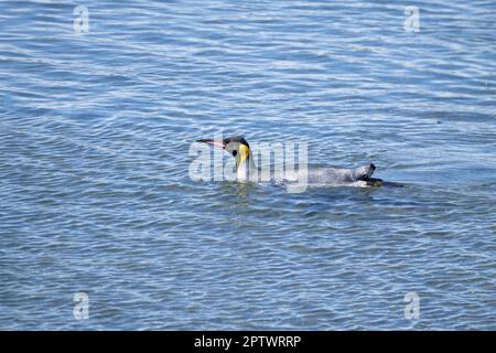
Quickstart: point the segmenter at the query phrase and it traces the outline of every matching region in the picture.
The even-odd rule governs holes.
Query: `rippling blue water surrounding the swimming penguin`
[[[494,1],[1,1],[0,33],[0,329],[496,330]],[[218,132],[405,186],[192,181]]]

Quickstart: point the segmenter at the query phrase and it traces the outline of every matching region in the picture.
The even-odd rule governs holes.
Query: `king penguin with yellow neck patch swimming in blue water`
[[[236,159],[236,176],[241,181],[259,181],[265,172],[255,165],[254,154],[248,141],[241,136],[225,138],[224,140],[200,139],[197,142],[222,148]],[[309,185],[333,186],[380,186],[380,179],[370,178],[376,165],[373,163],[358,168],[314,167],[306,171],[305,179]],[[282,182],[296,182],[301,180],[302,171],[285,173]],[[262,179],[263,180],[263,179]],[[267,179],[266,179],[267,180]]]

